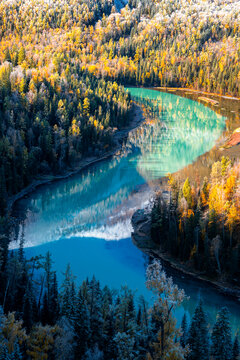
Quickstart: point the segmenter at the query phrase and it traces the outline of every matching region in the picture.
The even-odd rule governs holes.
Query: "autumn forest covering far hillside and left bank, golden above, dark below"
[[[238,1],[0,4],[0,199],[112,145],[119,84],[240,94]],[[198,19],[198,21],[196,21]]]

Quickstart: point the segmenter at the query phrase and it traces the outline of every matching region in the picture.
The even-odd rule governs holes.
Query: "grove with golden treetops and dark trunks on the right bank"
[[[240,285],[240,163],[222,157],[203,184],[169,175],[171,197],[158,194],[152,239],[162,251],[212,279]]]

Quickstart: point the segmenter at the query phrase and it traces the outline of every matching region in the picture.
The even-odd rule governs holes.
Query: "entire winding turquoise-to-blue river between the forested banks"
[[[13,213],[21,219],[19,238],[24,235],[27,257],[50,251],[60,280],[70,263],[78,282],[95,275],[102,285],[128,285],[151,301],[144,284],[148,259],[131,242],[131,215],[148,204],[152,180],[191,164],[215,145],[225,118],[174,94],[128,91],[152,109],[153,118],[129,134],[121,154],[39,187],[17,201]],[[192,315],[201,297],[210,323],[227,305],[234,330],[239,327],[240,305],[203,283],[172,275],[190,296],[176,313],[179,321],[184,311]]]

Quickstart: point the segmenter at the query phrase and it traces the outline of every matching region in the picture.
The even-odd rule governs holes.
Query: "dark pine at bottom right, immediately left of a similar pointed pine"
[[[188,360],[209,359],[209,334],[206,315],[201,302],[197,306],[191,321],[188,345],[190,348]]]

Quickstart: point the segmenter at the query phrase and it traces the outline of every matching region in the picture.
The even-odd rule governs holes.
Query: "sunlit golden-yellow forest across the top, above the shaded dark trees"
[[[120,12],[112,0],[31,0],[0,13],[0,61],[40,78],[78,63],[122,84],[240,94],[238,0],[130,0]]]

